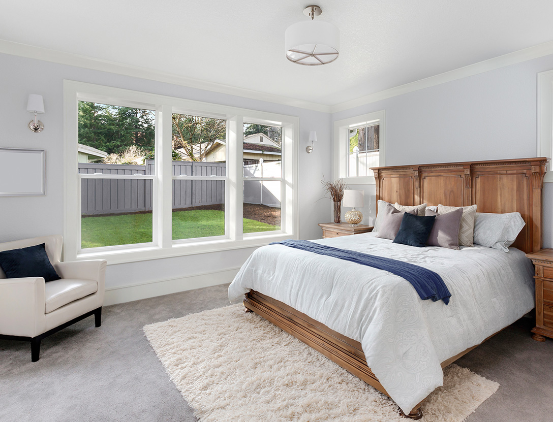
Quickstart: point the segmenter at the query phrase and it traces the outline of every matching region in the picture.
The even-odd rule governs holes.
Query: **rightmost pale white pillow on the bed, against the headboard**
[[[520,213],[476,213],[474,243],[509,252],[525,224]]]

